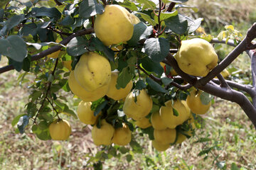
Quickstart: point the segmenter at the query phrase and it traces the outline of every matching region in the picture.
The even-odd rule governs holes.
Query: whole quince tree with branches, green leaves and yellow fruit
[[[141,152],[134,137],[139,131],[162,152],[193,137],[213,96],[238,103],[256,127],[256,23],[243,39],[233,27],[231,38],[214,38],[196,31],[203,18],[183,13],[182,8],[194,9],[186,1],[4,4],[0,59],[9,62],[0,74],[16,69],[24,88],[31,79],[26,111],[12,122],[16,131],[68,140],[72,124],[63,118],[70,115],[91,127],[97,146],[130,145]],[[214,44],[235,49],[220,60]],[[221,74],[242,52],[252,60],[250,85],[232,81],[231,72],[226,79]]]

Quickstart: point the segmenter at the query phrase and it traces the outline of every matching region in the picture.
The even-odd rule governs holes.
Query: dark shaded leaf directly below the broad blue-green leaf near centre
[[[142,60],[140,60],[140,62],[142,63],[142,67],[148,72],[155,72],[159,76],[161,76],[161,74],[164,72],[161,64],[159,62],[153,62],[149,59],[149,57],[144,57]]]

